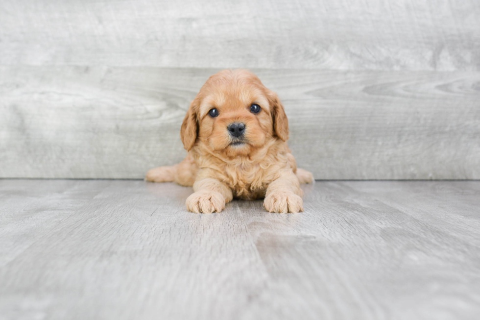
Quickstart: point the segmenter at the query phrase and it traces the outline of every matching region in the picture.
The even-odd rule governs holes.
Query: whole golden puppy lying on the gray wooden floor
[[[303,211],[300,183],[312,182],[312,173],[297,169],[283,105],[255,74],[239,69],[211,76],[192,101],[180,137],[187,157],[149,170],[146,180],[193,186],[190,211],[220,212],[234,197],[264,197],[269,212]]]

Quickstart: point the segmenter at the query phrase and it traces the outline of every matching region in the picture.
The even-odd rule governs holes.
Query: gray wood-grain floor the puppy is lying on
[[[479,319],[480,181],[316,182],[305,212],[0,180],[0,320]]]

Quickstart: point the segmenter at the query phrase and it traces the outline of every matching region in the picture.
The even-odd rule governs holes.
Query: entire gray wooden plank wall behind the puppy
[[[0,177],[142,178],[248,68],[317,179],[480,178],[478,0],[2,0]]]

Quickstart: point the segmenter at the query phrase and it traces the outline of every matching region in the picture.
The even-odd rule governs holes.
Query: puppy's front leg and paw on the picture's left
[[[220,212],[225,203],[233,199],[232,190],[223,182],[213,178],[195,181],[192,195],[187,198],[189,211],[195,213]]]

